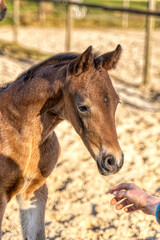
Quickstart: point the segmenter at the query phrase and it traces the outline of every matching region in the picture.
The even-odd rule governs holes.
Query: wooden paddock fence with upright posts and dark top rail
[[[14,39],[17,40],[17,28],[19,22],[19,1],[20,0],[13,0],[14,2]],[[148,2],[148,10],[141,10],[141,9],[133,9],[129,8],[129,1],[134,0],[124,0],[123,7],[114,7],[114,6],[106,6],[106,5],[98,5],[98,4],[89,4],[89,3],[81,3],[76,2],[74,0],[35,0],[40,3],[41,9],[41,21],[43,22],[45,15],[44,15],[44,3],[45,2],[53,2],[54,4],[65,4],[67,6],[67,13],[66,13],[66,39],[65,39],[65,50],[70,51],[71,48],[71,37],[72,37],[72,23],[73,23],[73,14],[72,14],[72,7],[73,6],[83,6],[88,8],[96,8],[102,9],[105,11],[117,11],[123,13],[123,26],[127,27],[128,21],[128,14],[138,14],[146,16],[146,35],[145,35],[145,54],[144,54],[144,78],[143,84],[147,84],[149,82],[150,72],[149,72],[149,65],[150,65],[150,49],[151,49],[151,34],[153,31],[153,17],[160,17],[160,12],[155,11],[155,1],[157,0],[141,0]]]

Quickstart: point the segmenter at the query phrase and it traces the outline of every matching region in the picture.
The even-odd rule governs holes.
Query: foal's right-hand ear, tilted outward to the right
[[[113,52],[105,53],[96,59],[96,67],[102,66],[106,70],[115,68],[122,52],[121,45],[117,45]]]

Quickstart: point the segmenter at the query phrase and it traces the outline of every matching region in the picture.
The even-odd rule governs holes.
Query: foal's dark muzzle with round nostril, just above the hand
[[[124,162],[123,154],[121,156],[121,160],[119,163],[117,163],[113,155],[108,154],[106,156],[102,156],[102,159],[100,161],[97,160],[97,166],[99,172],[102,175],[107,176],[109,174],[117,173],[123,166],[123,162]]]

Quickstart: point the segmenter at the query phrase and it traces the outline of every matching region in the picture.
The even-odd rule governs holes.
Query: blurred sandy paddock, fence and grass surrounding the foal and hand
[[[47,180],[47,239],[160,239],[153,216],[117,212],[109,203],[110,188],[123,181],[160,197],[160,1],[6,1],[7,16],[0,22],[1,85],[59,52],[81,53],[90,45],[102,54],[117,44],[123,49],[109,74],[123,102],[116,125],[124,166],[116,175],[100,176],[72,126],[62,122],[56,128],[61,156]],[[3,239],[21,236],[13,200]]]

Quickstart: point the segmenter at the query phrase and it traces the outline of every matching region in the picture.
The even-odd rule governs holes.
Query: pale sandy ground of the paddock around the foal
[[[0,28],[0,38],[12,40],[9,28]],[[110,206],[112,186],[134,182],[150,194],[160,197],[160,33],[153,36],[151,83],[149,91],[134,83],[142,79],[144,33],[133,31],[79,31],[73,35],[72,50],[110,51],[120,43],[123,56],[112,71],[114,86],[123,100],[117,109],[117,131],[125,154],[121,171],[102,177],[81,139],[68,122],[62,122],[56,133],[61,156],[48,178],[49,196],[46,209],[48,240],[158,240],[160,227],[153,216],[141,212],[125,214]],[[55,29],[20,29],[19,42],[46,52],[64,51],[64,31]],[[0,81],[11,81],[30,63],[0,56]],[[124,84],[115,79],[125,79]],[[13,199],[3,220],[3,239],[21,240],[18,205]]]

